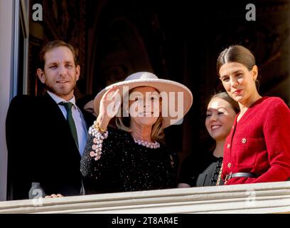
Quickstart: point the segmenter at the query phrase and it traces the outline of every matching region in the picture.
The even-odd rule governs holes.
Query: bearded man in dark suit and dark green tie
[[[80,76],[73,46],[47,43],[37,70],[47,92],[17,95],[6,118],[9,199],[82,195],[80,157],[87,125],[75,105]]]

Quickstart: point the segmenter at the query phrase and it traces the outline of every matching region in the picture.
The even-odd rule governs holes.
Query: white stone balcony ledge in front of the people
[[[290,182],[15,200],[0,213],[290,213]]]

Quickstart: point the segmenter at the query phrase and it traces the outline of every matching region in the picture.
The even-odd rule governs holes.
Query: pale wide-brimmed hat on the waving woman
[[[167,93],[168,100],[167,103],[165,102],[166,107],[162,107],[162,109],[167,108],[169,114],[178,112],[178,110],[176,109],[178,107],[178,98],[179,98],[179,102],[183,102],[179,104],[182,106],[182,110],[179,110],[182,113],[178,113],[177,116],[171,116],[169,114],[167,116],[162,115],[163,128],[167,128],[168,126],[173,124],[182,123],[184,115],[188,113],[188,110],[193,104],[193,95],[186,86],[183,86],[183,84],[178,83],[176,81],[158,78],[153,73],[137,72],[128,76],[124,81],[107,86],[96,95],[94,100],[94,109],[97,114],[99,113],[100,100],[102,99],[102,96],[104,95],[104,93],[106,93],[107,90],[109,90],[113,86],[119,88],[121,95],[123,94],[124,86],[127,86],[127,91],[140,86],[150,86],[156,88],[156,90],[158,90],[160,94]],[[164,103],[162,104],[164,105]]]

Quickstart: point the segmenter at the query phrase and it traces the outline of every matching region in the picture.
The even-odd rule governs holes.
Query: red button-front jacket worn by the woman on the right
[[[225,140],[222,179],[230,172],[252,172],[259,177],[234,177],[226,185],[290,177],[290,110],[281,98],[261,98],[238,123],[236,117]]]

